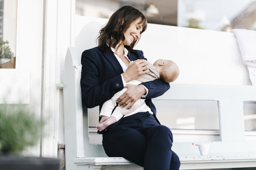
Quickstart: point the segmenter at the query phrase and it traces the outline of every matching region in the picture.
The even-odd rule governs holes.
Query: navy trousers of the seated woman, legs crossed
[[[176,170],[179,157],[172,151],[172,133],[154,116],[141,112],[124,117],[103,133],[103,147],[109,157],[124,157],[145,170]]]

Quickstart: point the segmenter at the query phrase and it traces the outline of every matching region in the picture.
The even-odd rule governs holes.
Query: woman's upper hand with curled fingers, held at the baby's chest
[[[148,72],[148,62],[146,60],[135,60],[129,64],[126,71],[122,73],[124,81],[128,82],[137,79],[140,75]]]

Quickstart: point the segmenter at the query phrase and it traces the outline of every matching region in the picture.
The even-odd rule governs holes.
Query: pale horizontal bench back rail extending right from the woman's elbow
[[[229,86],[211,84],[170,84],[164,95],[154,100],[221,100],[239,99],[256,101],[255,86]]]

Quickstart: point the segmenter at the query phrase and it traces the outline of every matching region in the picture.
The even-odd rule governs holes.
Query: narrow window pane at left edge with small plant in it
[[[17,0],[0,0],[0,69],[15,69]]]

